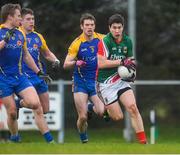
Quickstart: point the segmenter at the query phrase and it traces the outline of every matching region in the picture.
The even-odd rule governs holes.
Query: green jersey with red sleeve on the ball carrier
[[[120,43],[116,43],[111,33],[108,33],[98,45],[98,55],[105,56],[108,60],[118,60],[132,57],[132,41],[123,34]],[[120,79],[117,67],[104,68],[98,71],[98,82],[114,83]]]

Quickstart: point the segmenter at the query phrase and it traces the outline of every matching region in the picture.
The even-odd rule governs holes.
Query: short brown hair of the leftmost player
[[[6,22],[8,15],[14,16],[15,10],[21,11],[21,6],[19,4],[8,3],[1,7],[1,20]]]

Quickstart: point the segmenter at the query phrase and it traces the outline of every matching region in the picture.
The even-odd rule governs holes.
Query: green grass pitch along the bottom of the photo
[[[165,129],[165,130],[164,130]],[[89,154],[89,153],[131,153],[131,154],[149,154],[180,153],[180,136],[177,127],[162,127],[159,129],[159,137],[155,145],[141,145],[136,141],[127,143],[122,138],[122,129],[89,129],[89,142],[81,144],[76,130],[65,132],[64,144],[46,144],[39,132],[22,132],[23,142],[19,144],[1,143],[1,154],[35,154],[35,153],[64,153],[64,154]],[[53,133],[55,134],[55,133]]]

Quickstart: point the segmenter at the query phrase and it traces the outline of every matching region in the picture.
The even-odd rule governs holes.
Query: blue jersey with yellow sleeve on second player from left
[[[40,51],[44,51],[48,49],[46,41],[44,40],[43,36],[35,31],[26,34],[27,40],[27,49],[31,54],[34,62],[36,63],[37,67],[46,72],[45,65],[40,61]],[[36,73],[27,66],[27,64],[23,63],[23,72],[25,72],[28,76],[36,75]]]

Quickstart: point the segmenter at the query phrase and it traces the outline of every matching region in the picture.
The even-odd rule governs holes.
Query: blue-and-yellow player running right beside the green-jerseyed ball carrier
[[[69,47],[64,68],[74,67],[74,101],[78,113],[77,128],[82,143],[87,137],[87,102],[88,98],[95,105],[96,113],[102,115],[104,105],[96,94],[97,47],[102,35],[95,33],[95,17],[89,13],[81,16],[80,27],[83,33]]]

